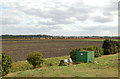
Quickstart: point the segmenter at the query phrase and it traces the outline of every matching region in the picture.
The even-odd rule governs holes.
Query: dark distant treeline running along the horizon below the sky
[[[11,38],[24,38],[24,39],[32,39],[32,38],[113,38],[118,39],[117,36],[109,37],[109,36],[51,36],[51,35],[1,35],[3,39],[11,39]]]

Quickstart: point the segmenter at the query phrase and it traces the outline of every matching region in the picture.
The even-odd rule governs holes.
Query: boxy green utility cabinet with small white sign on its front
[[[93,62],[95,60],[94,51],[78,51],[76,52],[77,62]]]

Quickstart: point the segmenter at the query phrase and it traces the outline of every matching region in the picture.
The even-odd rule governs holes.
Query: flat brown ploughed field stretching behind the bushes
[[[43,58],[69,55],[73,48],[96,45],[101,47],[103,41],[84,40],[3,40],[2,51],[10,55],[14,62],[26,60],[29,52],[38,51]]]

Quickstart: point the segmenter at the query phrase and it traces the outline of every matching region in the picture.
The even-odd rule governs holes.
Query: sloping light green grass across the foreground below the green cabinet
[[[60,59],[59,59],[60,58]],[[27,71],[8,74],[7,77],[117,77],[118,54],[104,55],[96,58],[95,64],[82,63],[69,66],[56,66],[61,59],[69,56],[48,58],[47,62],[56,63],[55,66],[42,67]],[[44,63],[45,65],[45,63]]]

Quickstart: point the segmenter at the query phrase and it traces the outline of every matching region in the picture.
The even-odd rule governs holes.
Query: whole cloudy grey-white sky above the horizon
[[[118,35],[118,0],[1,0],[0,34]]]

